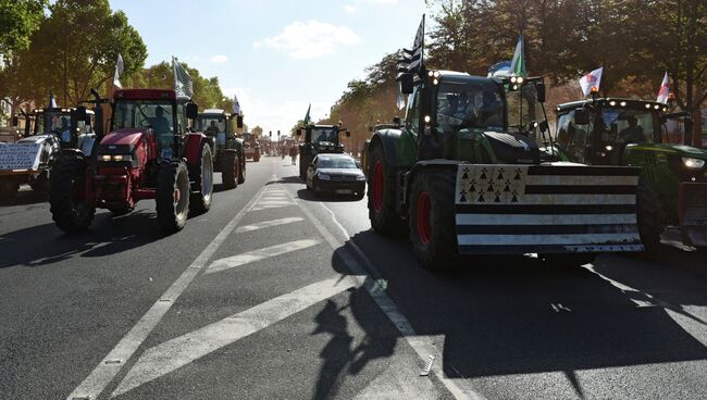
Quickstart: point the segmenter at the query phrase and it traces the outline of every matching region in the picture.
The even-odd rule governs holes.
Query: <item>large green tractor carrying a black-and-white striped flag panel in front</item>
[[[532,139],[549,136],[542,77],[448,71],[401,76],[401,127],[367,147],[373,229],[409,232],[419,262],[449,268],[460,254],[537,253],[583,264],[599,252],[642,251],[640,168],[555,163]]]

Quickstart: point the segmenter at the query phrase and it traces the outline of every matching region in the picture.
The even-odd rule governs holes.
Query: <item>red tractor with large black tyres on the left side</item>
[[[213,159],[208,137],[188,128],[197,113],[197,104],[177,98],[174,90],[116,91],[110,133],[103,136],[97,129],[96,155],[65,151],[52,171],[50,204],[57,226],[82,232],[97,208],[121,215],[144,199],[156,199],[157,220],[168,233],[182,229],[189,212],[208,211]]]

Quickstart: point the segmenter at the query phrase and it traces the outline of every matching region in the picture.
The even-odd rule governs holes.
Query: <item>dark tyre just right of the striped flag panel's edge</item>
[[[660,247],[660,234],[665,229],[665,213],[660,197],[645,185],[638,185],[636,192],[638,234],[646,251]]]

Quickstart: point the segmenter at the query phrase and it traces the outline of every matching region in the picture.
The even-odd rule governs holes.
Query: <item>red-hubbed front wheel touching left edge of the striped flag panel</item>
[[[427,270],[451,270],[458,263],[455,184],[451,172],[422,171],[410,189],[410,242]]]

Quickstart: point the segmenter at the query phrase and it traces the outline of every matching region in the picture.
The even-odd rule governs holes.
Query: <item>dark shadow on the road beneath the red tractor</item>
[[[54,224],[37,225],[0,235],[0,268],[44,266],[74,257],[116,254],[160,240],[154,212],[140,210],[120,217],[97,214],[91,227],[79,234],[64,234]]]

